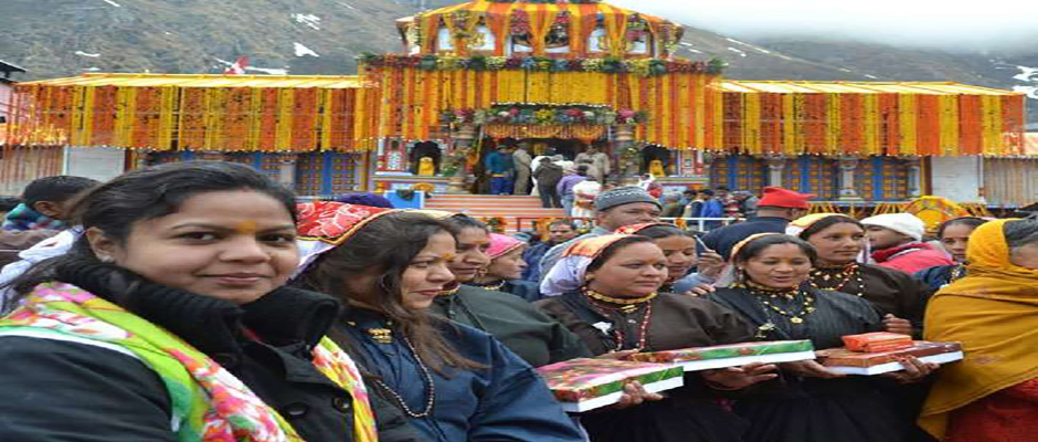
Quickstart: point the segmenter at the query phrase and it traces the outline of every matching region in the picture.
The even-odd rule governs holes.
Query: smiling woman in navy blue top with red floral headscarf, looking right
[[[300,204],[300,283],[348,308],[332,338],[433,441],[579,442],[532,367],[497,339],[428,313],[456,257],[457,233],[421,213]],[[501,295],[511,296],[511,295]]]

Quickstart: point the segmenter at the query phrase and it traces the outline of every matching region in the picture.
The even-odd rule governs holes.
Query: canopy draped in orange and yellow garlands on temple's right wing
[[[956,83],[725,81],[723,144],[745,154],[1025,155],[1024,94]]]

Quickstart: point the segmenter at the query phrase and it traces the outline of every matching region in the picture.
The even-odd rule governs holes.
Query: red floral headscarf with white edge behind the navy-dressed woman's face
[[[401,210],[347,204],[336,201],[314,201],[296,206],[299,232],[299,265],[293,277],[303,273],[322,253],[342,244],[353,233],[388,213]]]

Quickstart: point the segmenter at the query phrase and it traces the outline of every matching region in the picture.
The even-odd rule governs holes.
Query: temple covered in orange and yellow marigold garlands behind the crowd
[[[123,169],[246,162],[315,197],[480,192],[483,157],[523,146],[570,159],[594,147],[612,158],[607,180],[652,172],[675,190],[784,186],[834,202],[945,192],[1014,207],[1038,193],[1019,93],[725,80],[719,60],[672,54],[677,23],[589,0],[477,0],[395,25],[403,51],[361,55],[356,76],[17,84],[0,190],[105,152]]]

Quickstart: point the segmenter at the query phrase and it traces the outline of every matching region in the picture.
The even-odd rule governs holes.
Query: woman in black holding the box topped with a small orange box
[[[738,312],[762,340],[809,339],[815,349],[841,347],[841,337],[882,328],[872,305],[855,295],[807,284],[815,249],[795,236],[760,233],[732,251],[735,283],[708,296]],[[903,360],[904,371],[847,377],[816,361],[780,365],[781,383],[735,403],[751,422],[748,442],[904,442],[910,431],[881,388],[914,382],[935,366]]]

